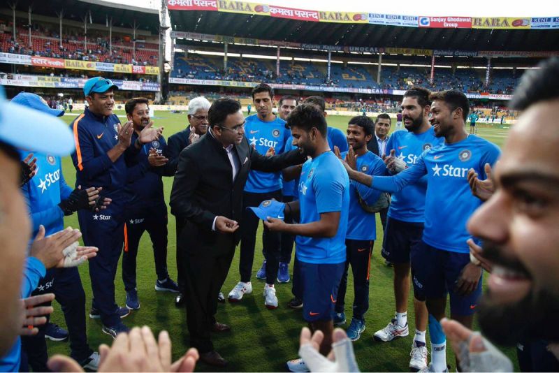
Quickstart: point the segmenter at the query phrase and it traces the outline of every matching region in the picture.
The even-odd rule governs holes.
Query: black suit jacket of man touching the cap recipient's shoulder
[[[185,219],[187,224],[180,234],[180,244],[187,251],[210,251],[224,254],[240,241],[240,229],[233,235],[212,231],[217,216],[224,216],[242,224],[242,191],[249,170],[276,172],[303,163],[305,157],[298,149],[266,157],[252,149],[247,138],[233,147],[240,170],[235,180],[231,162],[221,142],[206,133],[197,142],[182,150],[177,173],[170,194],[171,213]],[[177,244],[179,244],[177,242]]]

